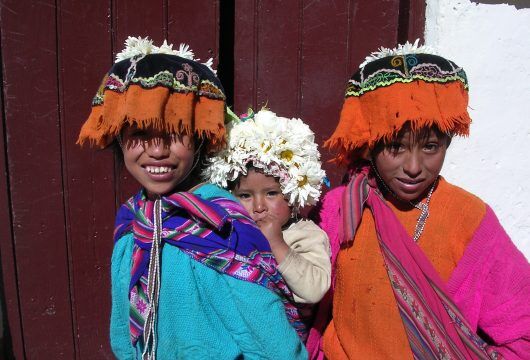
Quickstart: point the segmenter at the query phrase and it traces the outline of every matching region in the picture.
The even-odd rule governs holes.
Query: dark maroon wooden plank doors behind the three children
[[[220,54],[236,112],[267,104],[302,117],[322,143],[357,64],[420,37],[424,8],[420,0],[1,0],[4,347],[17,359],[112,358],[114,211],[136,185],[110,151],[75,140],[127,35],[188,42],[203,59]],[[339,171],[329,170],[336,182]]]

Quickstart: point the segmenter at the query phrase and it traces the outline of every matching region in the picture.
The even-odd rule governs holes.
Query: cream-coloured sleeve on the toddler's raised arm
[[[278,266],[297,303],[319,302],[331,284],[329,239],[310,220],[302,220],[283,231],[290,250]]]

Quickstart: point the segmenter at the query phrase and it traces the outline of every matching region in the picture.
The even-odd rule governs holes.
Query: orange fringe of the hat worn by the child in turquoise
[[[90,142],[104,148],[125,124],[141,129],[153,127],[168,133],[195,134],[208,140],[208,150],[225,143],[224,101],[198,97],[192,92],[176,93],[164,87],[144,89],[130,85],[125,92],[107,90],[104,102],[92,107],[77,143]]]

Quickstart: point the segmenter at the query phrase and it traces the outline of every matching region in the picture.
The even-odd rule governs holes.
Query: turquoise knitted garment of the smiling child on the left
[[[206,185],[195,194],[226,195]],[[241,239],[243,240],[243,239]],[[142,343],[129,338],[128,293],[132,234],[116,242],[112,258],[111,345],[117,358],[135,359]],[[175,246],[161,259],[158,331],[160,359],[304,359],[279,296],[265,287],[219,273]]]

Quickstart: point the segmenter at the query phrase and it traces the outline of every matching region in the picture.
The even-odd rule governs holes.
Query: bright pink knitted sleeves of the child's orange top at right
[[[333,264],[342,240],[347,238],[342,204],[345,189],[342,186],[328,193],[321,211],[321,226],[330,237]],[[416,248],[421,255],[416,252],[413,257],[428,262],[421,249]],[[437,277],[437,274],[433,276]],[[528,358],[530,266],[489,207],[448,283],[439,285],[460,309],[471,330],[476,332],[480,328],[491,339],[493,346],[490,348],[508,359]],[[332,292],[333,289],[319,307],[307,343],[313,359],[323,358],[321,335],[330,320]]]

